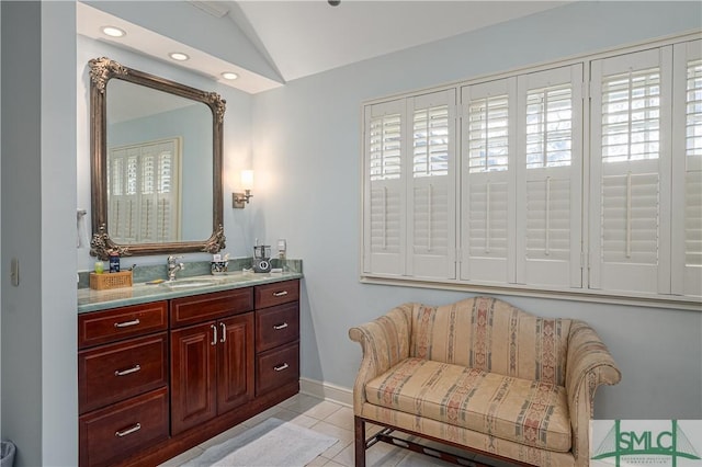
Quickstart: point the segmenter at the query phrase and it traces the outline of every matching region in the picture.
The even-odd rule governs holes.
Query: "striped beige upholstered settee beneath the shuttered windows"
[[[595,391],[621,378],[586,322],[540,318],[488,297],[405,304],[349,337],[363,350],[353,387],[356,466],[377,441],[454,463],[477,453],[587,466]],[[385,430],[366,438],[366,422]],[[453,453],[398,441],[395,431]]]

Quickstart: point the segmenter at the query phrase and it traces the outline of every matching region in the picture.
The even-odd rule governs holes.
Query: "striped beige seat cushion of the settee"
[[[566,389],[409,357],[365,385],[369,403],[547,451],[570,451]]]

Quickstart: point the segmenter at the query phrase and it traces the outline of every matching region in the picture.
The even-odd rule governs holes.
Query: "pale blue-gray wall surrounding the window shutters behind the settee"
[[[469,295],[359,282],[363,100],[699,31],[701,18],[695,2],[578,2],[256,95],[254,170],[268,183],[251,205],[253,235],[286,238],[290,255],[304,259],[303,376],[350,388],[360,361],[350,327],[403,301]],[[702,418],[702,314],[502,298],[600,332],[623,380],[598,391],[598,418]]]

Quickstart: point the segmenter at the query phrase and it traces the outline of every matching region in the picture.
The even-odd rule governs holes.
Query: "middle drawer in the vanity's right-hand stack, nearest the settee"
[[[256,311],[256,351],[263,352],[299,339],[299,304]]]

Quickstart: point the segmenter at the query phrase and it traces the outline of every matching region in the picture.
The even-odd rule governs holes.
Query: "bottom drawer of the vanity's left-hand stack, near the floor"
[[[79,418],[80,465],[117,464],[168,438],[168,389],[161,388]]]

